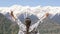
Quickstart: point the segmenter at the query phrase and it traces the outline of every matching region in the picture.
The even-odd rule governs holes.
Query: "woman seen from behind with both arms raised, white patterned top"
[[[49,13],[46,13],[37,23],[33,24],[31,26],[31,19],[26,18],[25,19],[25,25],[21,23],[21,21],[14,17],[13,12],[11,12],[11,16],[15,19],[15,21],[19,25],[19,33],[18,34],[39,34],[39,31],[37,30],[37,27],[39,25],[39,22],[43,20],[44,18],[48,17]]]

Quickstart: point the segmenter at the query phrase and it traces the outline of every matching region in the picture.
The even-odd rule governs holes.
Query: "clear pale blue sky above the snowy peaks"
[[[0,0],[0,7],[22,6],[60,6],[60,0]]]

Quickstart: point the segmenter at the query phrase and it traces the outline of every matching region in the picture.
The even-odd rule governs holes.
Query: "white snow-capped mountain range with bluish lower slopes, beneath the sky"
[[[24,20],[24,15],[28,13],[27,15],[31,14],[33,16],[36,16],[36,19],[40,19],[45,13],[50,13],[49,19],[54,20],[56,22],[60,22],[60,7],[52,7],[52,6],[36,6],[36,7],[30,7],[30,6],[21,6],[21,5],[13,5],[11,7],[0,7],[0,13],[4,14],[7,18],[11,19],[10,12],[14,12],[14,16],[18,17],[19,19]],[[25,16],[26,17],[26,16]],[[30,16],[33,18],[32,16]],[[36,20],[35,18],[32,20]],[[21,20],[21,21],[22,21]]]

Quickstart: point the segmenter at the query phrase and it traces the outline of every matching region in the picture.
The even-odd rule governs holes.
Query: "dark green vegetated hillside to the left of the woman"
[[[0,14],[0,34],[18,34],[18,31],[19,27],[17,23]]]

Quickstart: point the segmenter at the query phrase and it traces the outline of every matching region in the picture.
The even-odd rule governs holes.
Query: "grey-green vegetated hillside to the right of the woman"
[[[40,24],[39,30],[40,34],[60,34],[60,24],[46,19],[42,24]]]

